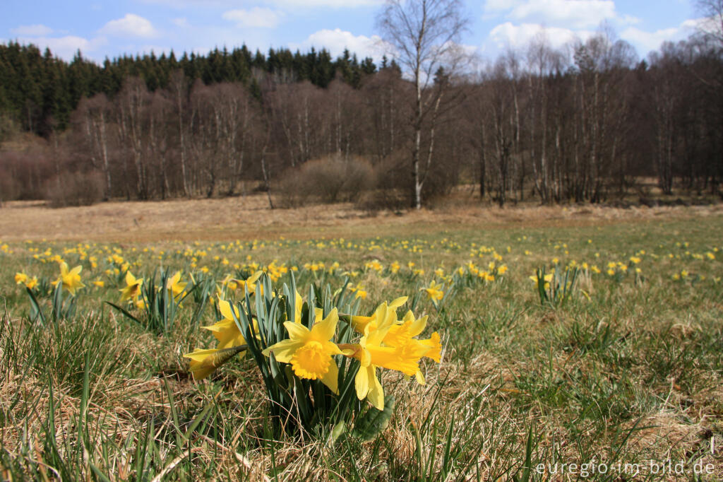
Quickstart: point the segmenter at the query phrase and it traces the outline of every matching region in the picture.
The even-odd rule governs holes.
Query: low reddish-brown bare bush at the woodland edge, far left
[[[103,199],[103,177],[98,172],[66,172],[46,182],[44,196],[53,208],[90,206]]]

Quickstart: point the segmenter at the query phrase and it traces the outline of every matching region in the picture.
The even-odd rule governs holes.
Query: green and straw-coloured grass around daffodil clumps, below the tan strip
[[[179,241],[159,236],[170,229],[161,227],[140,233],[147,242],[122,245],[111,242],[111,227],[78,244],[41,241],[38,225],[25,226],[0,242],[0,478],[721,480],[723,217],[714,208],[581,211],[495,211],[477,221],[471,211],[359,216],[330,222],[317,236],[313,221],[252,236],[250,228],[222,232],[221,223],[204,228],[190,216],[193,228]],[[207,229],[199,242],[196,229]],[[428,313],[442,334],[442,363],[424,365],[426,386],[385,375],[396,405],[377,439],[346,431],[332,442],[331,428],[274,435],[252,361],[234,360],[194,382],[181,358],[209,346],[199,326],[215,321],[210,304],[200,310],[189,295],[170,331],[159,334],[103,303],[119,299],[114,254],[134,274],[150,277],[163,266],[181,269],[186,281],[204,268],[220,281],[272,261],[296,266],[307,291],[312,282],[334,290],[351,276],[367,292],[367,313],[382,300],[416,295],[415,313]],[[38,293],[43,323],[13,276],[24,271],[43,286],[57,276],[55,255],[81,264],[87,286],[75,313],[56,321],[51,296]],[[380,271],[367,267],[375,260]],[[458,282],[437,308],[419,291],[469,261],[508,271],[494,282]],[[565,303],[541,303],[529,276],[555,263],[581,274]],[[654,473],[667,461],[671,470]],[[609,470],[588,467],[583,475],[588,462]],[[562,463],[578,466],[563,474]]]

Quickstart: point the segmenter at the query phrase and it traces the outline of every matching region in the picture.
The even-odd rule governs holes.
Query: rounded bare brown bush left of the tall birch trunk
[[[273,188],[275,203],[283,208],[309,202],[356,201],[372,186],[374,172],[359,156],[327,156],[287,169]]]

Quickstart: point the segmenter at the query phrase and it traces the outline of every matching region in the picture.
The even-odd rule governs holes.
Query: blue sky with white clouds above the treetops
[[[544,28],[552,46],[593,35],[602,22],[644,58],[662,41],[693,31],[692,0],[463,0],[471,19],[462,42],[494,59],[507,46],[524,46]],[[380,0],[2,0],[0,42],[49,46],[71,59],[78,48],[106,56],[173,49],[205,54],[215,46],[348,47],[380,58],[375,15]]]

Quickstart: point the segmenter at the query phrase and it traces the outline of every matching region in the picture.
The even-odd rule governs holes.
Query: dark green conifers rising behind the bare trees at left
[[[146,88],[154,92],[167,88],[171,75],[182,70],[192,81],[200,79],[206,85],[243,83],[258,96],[258,82],[265,75],[283,83],[309,81],[323,88],[340,72],[346,83],[358,87],[362,77],[376,68],[371,58],[359,61],[348,50],[332,59],[323,48],[312,48],[306,54],[270,48],[268,54],[258,50],[254,54],[245,45],[231,51],[215,48],[205,56],[184,52],[179,59],[174,51],[161,56],[153,52],[124,55],[98,65],[80,51],[71,62],[64,62],[49,48],[41,54],[37,46],[11,41],[0,44],[0,113],[23,130],[47,137],[69,126],[81,98],[96,93],[114,97],[128,77],[142,78]]]

